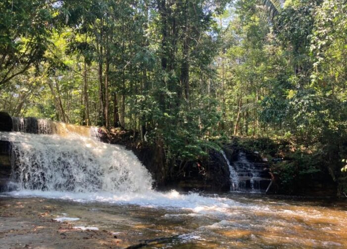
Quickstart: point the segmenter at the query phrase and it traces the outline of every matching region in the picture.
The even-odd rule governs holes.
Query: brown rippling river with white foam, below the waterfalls
[[[117,237],[114,245],[120,248],[139,244],[141,248],[177,249],[347,248],[347,205],[343,201],[241,193],[198,195],[172,191],[156,195],[144,199],[105,193],[84,196],[12,192],[1,196],[0,206],[2,214],[12,213],[10,217],[16,216],[14,210],[20,210],[20,220],[28,213],[30,216],[33,206],[35,210],[42,208],[39,212],[49,207],[47,218],[71,224],[73,230],[107,231]],[[38,219],[36,213],[33,219]],[[16,248],[13,237],[21,234],[21,229],[11,234],[9,224],[0,225],[0,240],[8,248]],[[62,239],[58,234],[50,238],[47,231],[42,233],[46,238],[39,244],[34,240],[33,248],[60,248]],[[79,248],[76,238],[67,238],[70,248]],[[33,242],[32,237],[18,243],[29,242]]]

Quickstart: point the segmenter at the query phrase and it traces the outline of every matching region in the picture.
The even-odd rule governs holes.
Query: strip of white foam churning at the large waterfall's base
[[[7,195],[13,197],[43,197],[51,199],[64,199],[77,202],[104,202],[120,205],[139,205],[150,208],[173,208],[191,211],[193,213],[215,213],[224,214],[233,207],[247,206],[238,201],[221,197],[204,197],[198,193],[180,194],[177,191],[167,193],[156,192],[153,190],[147,192],[132,193],[73,193],[61,191],[39,191],[39,190],[21,190],[8,192]]]

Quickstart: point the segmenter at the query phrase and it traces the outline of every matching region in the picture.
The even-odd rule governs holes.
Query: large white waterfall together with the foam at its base
[[[151,189],[148,170],[133,152],[95,138],[0,132],[0,140],[10,141],[15,153],[12,182],[17,190],[7,193],[10,196],[179,208],[217,215],[245,205],[197,193],[156,192]]]

